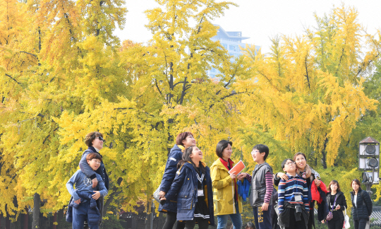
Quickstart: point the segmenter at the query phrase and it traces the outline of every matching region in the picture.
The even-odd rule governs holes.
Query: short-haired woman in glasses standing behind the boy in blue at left
[[[104,186],[106,187],[107,190],[109,190],[109,176],[107,175],[106,168],[104,167],[103,160],[101,161],[101,164],[97,170],[92,170],[90,165],[87,163],[86,156],[89,153],[99,153],[99,151],[103,148],[103,135],[97,131],[91,132],[85,136],[85,144],[87,145],[87,150],[83,152],[82,158],[80,158],[80,170],[85,173],[87,177],[89,177],[92,180],[92,187],[95,188],[97,187],[98,180],[97,176],[95,173],[99,174],[102,177],[102,180],[104,181]],[[99,153],[99,155],[101,155]],[[102,157],[102,155],[101,155]],[[102,211],[103,211],[103,197],[99,198],[99,212],[101,213],[102,216]],[[101,217],[101,222],[102,222],[102,217]]]

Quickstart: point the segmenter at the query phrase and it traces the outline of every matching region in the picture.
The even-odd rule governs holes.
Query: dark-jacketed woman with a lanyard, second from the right
[[[329,193],[327,194],[327,203],[329,206],[329,211],[332,210],[333,207],[333,218],[328,221],[329,229],[341,229],[344,224],[344,209],[346,209],[346,200],[344,193],[341,192],[339,182],[337,180],[332,180],[329,183],[327,188]],[[335,201],[336,199],[336,201]]]

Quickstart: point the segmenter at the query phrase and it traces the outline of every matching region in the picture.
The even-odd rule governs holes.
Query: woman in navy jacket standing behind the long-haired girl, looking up
[[[196,141],[193,138],[191,132],[183,132],[176,137],[176,144],[171,148],[171,152],[168,155],[167,165],[165,165],[165,171],[160,184],[160,196],[164,197],[168,190],[171,188],[171,184],[174,181],[177,171],[177,164],[183,158],[183,151],[189,146],[195,146]],[[174,201],[167,201],[163,205],[159,205],[159,211],[167,213],[167,219],[164,223],[163,229],[172,229],[176,223],[177,203]],[[183,229],[183,223],[177,223],[176,229]]]

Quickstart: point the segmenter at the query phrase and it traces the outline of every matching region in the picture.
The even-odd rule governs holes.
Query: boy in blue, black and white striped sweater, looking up
[[[296,173],[294,160],[285,159],[282,169],[289,179],[282,179],[278,186],[279,225],[306,229],[310,211],[307,182]]]

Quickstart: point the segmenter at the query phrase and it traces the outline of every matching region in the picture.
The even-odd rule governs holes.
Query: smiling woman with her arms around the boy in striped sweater
[[[313,168],[310,168],[309,165],[307,165],[307,157],[306,154],[298,152],[294,155],[294,161],[296,163],[296,172],[298,175],[306,179],[307,185],[308,185],[308,197],[311,196],[311,184],[312,182],[315,182],[316,186],[320,186],[320,175],[317,173]],[[274,185],[278,186],[281,179],[289,180],[289,177],[287,177],[286,174],[283,172],[278,172],[274,175]],[[308,218],[308,229],[313,228],[313,221],[314,221],[314,205],[315,201],[310,201],[310,217]]]

